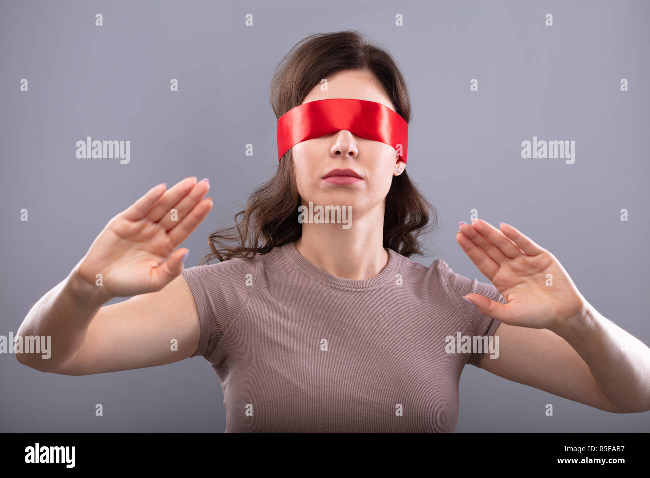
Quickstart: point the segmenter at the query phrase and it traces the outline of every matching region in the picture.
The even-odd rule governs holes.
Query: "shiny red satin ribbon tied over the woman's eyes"
[[[382,103],[334,98],[310,101],[278,120],[278,161],[296,144],[346,130],[361,138],[380,141],[397,150],[406,163],[408,123]]]

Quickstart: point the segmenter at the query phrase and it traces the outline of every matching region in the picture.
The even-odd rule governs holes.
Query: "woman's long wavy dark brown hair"
[[[357,31],[320,33],[298,42],[280,62],[272,79],[269,98],[279,119],[299,106],[321,79],[342,70],[367,70],[373,73],[393,101],[396,113],[411,120],[411,100],[406,81],[395,60],[383,49],[365,41]],[[248,198],[246,209],[235,215],[235,226],[210,235],[212,250],[201,260],[254,258],[272,248],[300,239],[298,222],[300,194],[293,170],[292,150],[279,161],[273,178],[257,187]],[[243,215],[243,222],[237,219]],[[433,221],[427,226],[430,217]],[[393,177],[386,196],[383,221],[383,246],[402,256],[422,254],[419,236],[437,224],[434,207],[411,183],[406,170]],[[228,245],[227,243],[234,243]],[[252,256],[250,256],[252,254]]]

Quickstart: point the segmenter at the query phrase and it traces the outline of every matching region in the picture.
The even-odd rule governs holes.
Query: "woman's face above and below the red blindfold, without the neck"
[[[328,78],[327,91],[321,91],[320,85],[315,86],[302,104],[332,98],[375,101],[395,111],[382,85],[369,72],[336,73]],[[382,212],[385,210],[385,198],[393,176],[398,175],[395,166],[400,166],[399,173],[406,166],[388,144],[361,138],[346,130],[298,143],[292,152],[302,204],[352,206],[352,214],[357,218],[378,207]],[[353,170],[361,179],[324,179],[333,169]]]

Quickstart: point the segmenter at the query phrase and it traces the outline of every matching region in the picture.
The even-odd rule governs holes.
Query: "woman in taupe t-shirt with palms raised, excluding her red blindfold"
[[[410,118],[395,62],[355,32],[306,38],[272,83],[279,120],[336,99]],[[204,261],[220,263],[183,271],[188,250],[175,250],[213,206],[207,180],[154,187],[112,219],[18,331],[52,336],[51,359],[21,363],[88,375],[203,356],[227,432],[453,432],[467,363],[608,412],[650,410],[649,349],[550,252],[479,219],[457,239],[493,285],[424,267],[409,257],[435,211],[405,152],[348,129],[290,146],[244,221],[211,237]],[[299,215],[314,204],[351,211],[350,227]]]

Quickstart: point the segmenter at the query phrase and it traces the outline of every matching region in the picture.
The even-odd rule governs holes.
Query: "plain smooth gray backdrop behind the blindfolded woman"
[[[249,13],[253,27],[244,26]],[[456,243],[458,222],[476,208],[549,249],[599,312],[649,343],[649,13],[642,1],[3,0],[0,335],[15,333],[105,224],[158,183],[211,179],[214,209],[185,243],[186,267],[197,265],[209,234],[230,225],[277,167],[268,86],[278,62],[309,34],[357,29],[388,49],[408,81],[408,171],[441,219],[432,254],[415,260],[441,258],[487,282]],[[473,78],[478,92],[469,91]],[[131,140],[131,163],[77,159],[86,136]],[[575,140],[575,164],[522,159],[521,142],[533,136]],[[29,222],[19,220],[23,208]],[[203,358],[66,377],[3,354],[0,380],[1,432],[226,428]],[[602,412],[471,366],[460,388],[457,432],[650,429],[650,413]]]

